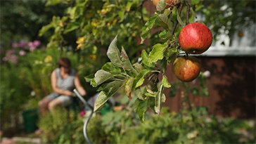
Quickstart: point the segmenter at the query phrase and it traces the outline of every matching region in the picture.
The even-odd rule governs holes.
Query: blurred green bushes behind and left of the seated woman
[[[27,55],[19,57],[18,64],[0,65],[1,69],[1,98],[0,106],[2,129],[8,129],[11,124],[11,115],[15,115],[18,124],[18,115],[27,108],[35,108],[38,101],[49,95],[51,90],[51,72],[58,67],[57,60],[60,51],[56,48],[37,49]],[[88,96],[93,96],[96,89],[84,82],[83,74],[91,74],[98,69],[98,60],[91,60],[78,56],[77,53],[65,52],[62,56],[71,60],[72,67],[77,70],[80,81]],[[8,64],[8,65],[7,65]]]

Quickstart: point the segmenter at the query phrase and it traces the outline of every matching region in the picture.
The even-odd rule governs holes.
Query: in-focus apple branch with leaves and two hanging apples
[[[111,96],[124,88],[130,99],[136,98],[134,107],[143,122],[148,107],[157,114],[161,112],[162,103],[165,102],[163,91],[171,87],[165,75],[167,65],[173,63],[174,74],[181,81],[192,81],[198,77],[200,63],[188,54],[206,51],[212,44],[212,33],[202,23],[193,22],[196,14],[190,0],[161,0],[153,1],[153,4],[157,11],[142,28],[141,40],[150,35],[153,27],[162,27],[160,42],[148,52],[141,51],[141,62],[132,64],[125,48],[118,48],[117,36],[113,39],[107,51],[110,62],[105,63],[95,74],[86,77],[92,86],[101,91],[94,104],[94,111],[100,110]],[[183,15],[184,9],[186,11]],[[189,24],[190,22],[192,23]],[[178,25],[179,30],[176,30]],[[181,49],[186,51],[184,57],[179,57]]]

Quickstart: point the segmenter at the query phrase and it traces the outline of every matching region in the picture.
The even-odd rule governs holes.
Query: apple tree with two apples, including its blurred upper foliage
[[[124,89],[129,98],[136,99],[134,107],[142,121],[148,107],[160,114],[165,102],[164,89],[174,92],[165,74],[167,65],[174,65],[174,74],[181,81],[196,79],[200,63],[190,55],[207,51],[222,27],[223,20],[212,22],[212,18],[220,20],[223,13],[216,1],[153,0],[156,11],[150,18],[146,2],[151,1],[48,0],[46,3],[68,6],[64,15],[54,16],[39,32],[39,35],[52,32],[48,47],[62,51],[76,47],[75,52],[82,58],[105,63],[101,70],[85,77],[100,91],[94,111]],[[239,9],[229,2],[219,3],[233,8],[232,11]],[[195,22],[198,11],[205,15],[207,19],[203,22],[213,27],[214,32],[203,22]],[[231,22],[236,19],[229,18]]]

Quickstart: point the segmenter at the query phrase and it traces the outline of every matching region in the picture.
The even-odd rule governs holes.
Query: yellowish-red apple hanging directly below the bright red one
[[[193,81],[200,73],[200,61],[195,57],[179,57],[174,60],[172,70],[181,81]]]

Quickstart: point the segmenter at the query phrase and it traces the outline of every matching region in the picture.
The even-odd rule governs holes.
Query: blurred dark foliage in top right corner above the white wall
[[[244,32],[256,21],[254,1],[197,1],[194,6],[205,16],[205,24],[211,25],[215,38],[222,33],[221,30],[232,38],[233,34]]]

